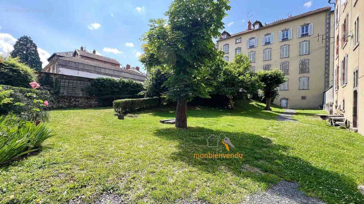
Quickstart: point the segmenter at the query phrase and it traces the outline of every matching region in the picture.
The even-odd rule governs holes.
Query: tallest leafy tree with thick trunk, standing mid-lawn
[[[142,36],[140,61],[147,69],[159,66],[171,73],[166,94],[177,100],[176,127],[187,127],[187,101],[209,97],[202,79],[209,72],[206,65],[218,57],[212,39],[219,37],[229,9],[228,0],[174,0],[165,13],[168,23],[150,20]]]

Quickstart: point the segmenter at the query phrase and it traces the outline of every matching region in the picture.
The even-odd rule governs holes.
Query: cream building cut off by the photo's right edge
[[[363,0],[335,1],[334,109],[360,134],[364,134],[364,63],[360,62],[364,54],[359,51],[359,42],[364,42],[363,13]]]

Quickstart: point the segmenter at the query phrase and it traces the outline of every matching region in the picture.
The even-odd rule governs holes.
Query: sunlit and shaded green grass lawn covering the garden
[[[281,178],[327,203],[364,203],[364,137],[325,124],[297,110],[298,122],[277,121],[283,109],[264,111],[238,101],[236,110],[193,107],[186,130],[159,123],[172,109],[154,109],[118,120],[111,108],[51,112],[54,147],[0,167],[0,200],[90,202],[112,191],[130,203],[202,199],[240,203]],[[223,134],[242,159],[194,159],[195,153],[227,153],[207,147]]]

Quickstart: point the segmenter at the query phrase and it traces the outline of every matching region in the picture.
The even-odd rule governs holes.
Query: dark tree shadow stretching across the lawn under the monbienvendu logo
[[[229,137],[234,148],[228,152],[225,147],[207,147],[206,139],[211,135]],[[290,156],[290,147],[274,144],[270,138],[246,132],[223,132],[203,127],[190,127],[186,130],[163,128],[154,135],[178,142],[178,151],[171,159],[198,168],[199,171],[215,173],[222,171],[221,166],[241,178],[249,178],[257,182],[274,183],[277,177],[288,181],[296,181],[300,189],[308,195],[314,195],[327,203],[364,203],[364,197],[357,189],[355,180],[312,166],[301,158]],[[222,139],[222,138],[221,138]],[[221,144],[221,143],[220,143]],[[242,159],[206,159],[194,158],[194,154],[242,153]],[[245,166],[258,168],[266,174],[252,174]],[[271,175],[271,176],[269,176]],[[276,179],[274,179],[276,178]]]

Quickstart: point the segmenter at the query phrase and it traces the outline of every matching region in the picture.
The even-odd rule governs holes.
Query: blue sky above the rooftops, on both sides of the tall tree
[[[9,52],[20,36],[31,36],[39,47],[43,62],[54,52],[66,52],[86,46],[99,54],[117,59],[122,66],[143,68],[138,61],[148,20],[165,17],[171,0],[114,1],[0,1],[0,52]],[[280,2],[280,3],[277,3]],[[232,0],[232,9],[223,19],[230,34],[246,29],[247,12],[251,21],[263,24],[286,18],[288,13],[329,6],[327,0]],[[19,9],[19,10],[15,10]],[[24,9],[48,9],[33,11]],[[43,64],[43,66],[45,66]]]

